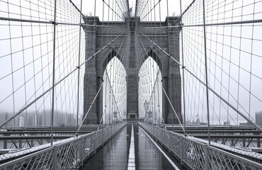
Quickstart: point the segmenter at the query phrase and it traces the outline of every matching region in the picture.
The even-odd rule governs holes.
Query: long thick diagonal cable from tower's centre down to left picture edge
[[[127,29],[125,29],[122,33],[120,33],[120,35],[118,35],[116,38],[114,38],[113,40],[111,40],[110,42],[108,42],[108,44],[106,44],[105,46],[103,46],[100,50],[98,50],[97,52],[95,52],[91,57],[89,57],[87,60],[85,60],[82,64],[79,65],[79,67],[81,67],[82,65],[86,64],[86,62],[89,62],[89,60],[91,60],[92,58],[96,57],[96,55],[101,52],[103,49],[105,49],[106,47],[108,47],[108,45],[110,45],[112,42],[114,42],[116,39],[118,39],[121,35],[123,35],[123,33],[125,33]],[[64,78],[60,79],[59,81],[57,81],[57,83],[54,84],[54,87],[57,86],[58,84],[60,84],[62,81],[64,81],[64,79],[67,79],[67,77],[69,77],[69,75],[71,75],[72,73],[74,73],[76,70],[79,69],[79,67],[76,67],[75,69],[72,70],[72,72],[69,72],[69,74],[67,74]],[[35,98],[35,100],[31,101],[30,103],[28,103],[28,105],[25,105],[23,108],[21,108],[16,114],[13,114],[11,116],[11,118],[8,118],[8,120],[4,121],[4,123],[2,123],[0,125],[0,128],[2,128],[4,125],[6,125],[8,122],[10,122],[11,120],[13,120],[13,118],[16,118],[17,115],[21,114],[23,111],[25,111],[25,109],[29,108],[33,103],[35,103],[35,101],[38,101],[42,96],[45,96],[45,94],[47,94],[50,90],[52,90],[53,87],[50,87],[50,89],[47,89],[44,93],[42,93],[40,96],[38,96],[37,98]]]

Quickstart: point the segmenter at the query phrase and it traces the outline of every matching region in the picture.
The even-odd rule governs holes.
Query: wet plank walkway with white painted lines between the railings
[[[135,164],[130,166],[128,163],[132,151],[132,148],[130,149],[132,123],[128,123],[118,135],[87,159],[81,169],[175,169],[174,166],[176,169],[186,169],[163,147],[159,145],[156,147],[142,128],[136,124],[133,124],[133,128]]]

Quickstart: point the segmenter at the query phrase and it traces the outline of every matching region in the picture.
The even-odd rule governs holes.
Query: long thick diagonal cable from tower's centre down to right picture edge
[[[139,33],[141,33],[142,35],[144,35],[144,33],[142,33],[139,29],[137,29],[139,31]],[[148,38],[146,35],[144,35],[145,38],[147,38],[147,40],[149,40],[149,42],[152,42],[152,44],[154,44],[156,47],[158,47],[162,52],[164,52],[164,54],[166,54],[167,56],[169,56],[171,58],[171,60],[173,60],[174,62],[176,62],[177,64],[179,64],[182,69],[185,69],[189,74],[191,74],[193,77],[195,77],[195,79],[197,79],[198,81],[200,81],[201,84],[203,84],[204,86],[207,86],[207,89],[209,89],[210,91],[212,91],[213,94],[215,94],[218,98],[220,98],[222,101],[224,101],[224,103],[227,103],[227,105],[232,108],[234,111],[236,111],[237,113],[239,113],[239,115],[241,115],[244,119],[246,119],[249,123],[251,123],[251,125],[254,125],[255,128],[257,128],[259,131],[262,132],[262,128],[260,128],[256,123],[254,123],[253,121],[249,120],[248,117],[246,117],[246,115],[244,115],[244,113],[241,113],[241,111],[239,111],[237,108],[235,108],[232,104],[230,104],[226,99],[222,98],[222,96],[220,96],[220,94],[217,94],[217,92],[215,92],[210,86],[208,86],[207,84],[205,84],[204,81],[202,81],[201,79],[199,79],[197,76],[195,76],[195,74],[193,74],[192,72],[190,72],[189,69],[187,69],[186,67],[183,66],[183,64],[181,64],[180,62],[178,62],[174,57],[172,57],[168,52],[166,52],[163,48],[159,47],[159,45],[156,45],[156,43],[154,41],[152,41],[150,38]]]

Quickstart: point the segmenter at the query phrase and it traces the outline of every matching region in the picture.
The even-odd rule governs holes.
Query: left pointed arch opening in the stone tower
[[[127,73],[117,56],[111,57],[103,72],[104,124],[117,123],[127,114]]]

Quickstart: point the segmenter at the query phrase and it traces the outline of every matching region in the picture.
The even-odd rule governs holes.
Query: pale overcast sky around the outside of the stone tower
[[[112,4],[115,1],[107,0]],[[118,1],[119,2],[119,1]],[[149,1],[149,3],[153,1]],[[0,16],[6,18],[24,18],[29,20],[52,21],[53,8],[49,2],[42,1],[0,2]],[[77,1],[80,4],[80,1]],[[167,3],[169,4],[167,6]],[[183,1],[182,11],[190,4]],[[185,25],[203,22],[202,1],[195,1],[195,5],[183,16]],[[58,1],[58,21],[79,23],[79,14],[69,1]],[[120,21],[120,18],[104,6],[103,1],[84,0],[83,11],[87,15],[99,16],[100,21]],[[49,6],[50,5],[50,6]],[[149,4],[151,6],[151,4]],[[152,4],[153,6],[153,4]],[[135,11],[135,1],[130,1],[130,8]],[[33,10],[30,10],[32,8]],[[118,8],[115,12],[120,14]],[[206,6],[207,23],[223,23],[232,21],[251,21],[262,18],[262,2],[256,1],[208,1]],[[108,16],[109,11],[109,16]],[[146,13],[146,12],[144,12]],[[142,18],[144,16],[142,13]],[[178,0],[162,0],[155,9],[156,21],[164,21],[166,16],[180,15]],[[160,17],[161,14],[161,17]],[[121,16],[121,14],[120,14]],[[153,19],[152,19],[153,18]],[[154,21],[154,15],[146,17],[143,21]],[[38,23],[22,23],[0,21],[0,111],[17,112],[25,103],[32,101],[52,84],[52,25]],[[79,26],[57,26],[57,64],[56,80],[62,79],[78,64]],[[262,110],[262,26],[260,23],[250,23],[234,26],[207,26],[207,65],[209,68],[209,85],[218,94],[225,98],[239,111],[254,118],[257,111]],[[84,62],[84,33],[81,34],[81,62]],[[180,47],[181,49],[181,47]],[[181,52],[181,50],[180,50]],[[203,42],[203,27],[183,28],[183,52],[185,65],[201,80],[205,81],[205,55]],[[34,76],[35,75],[35,76]],[[84,69],[81,69],[84,77]],[[63,84],[57,86],[57,110],[75,112],[77,74],[72,74]],[[26,85],[24,85],[26,82]],[[206,122],[205,89],[195,78],[186,73],[186,114],[190,120],[199,115]],[[42,84],[44,84],[42,86]],[[83,79],[81,79],[81,90]],[[70,88],[67,88],[70,86]],[[26,91],[25,91],[26,89]],[[60,90],[59,90],[60,89]],[[61,90],[62,89],[62,90]],[[37,91],[35,93],[35,91]],[[62,92],[63,91],[63,92]],[[69,92],[70,91],[70,92]],[[72,92],[73,91],[73,92]],[[13,92],[15,95],[13,95]],[[81,91],[81,95],[83,92]],[[26,97],[25,97],[26,96]],[[67,100],[63,100],[67,96]],[[81,96],[81,100],[83,96]],[[59,101],[59,102],[58,102]],[[68,104],[65,104],[67,103]],[[33,111],[50,109],[50,94],[41,98],[37,104],[30,107]],[[72,103],[72,104],[69,104]],[[74,104],[73,104],[74,103]],[[82,103],[81,103],[82,105]],[[81,106],[82,107],[82,106]],[[82,109],[81,109],[82,110]],[[217,97],[210,93],[210,111],[217,123],[237,120],[237,113],[228,108]],[[227,114],[229,112],[229,114]],[[230,118],[231,117],[231,118]],[[239,118],[239,122],[244,120]]]

